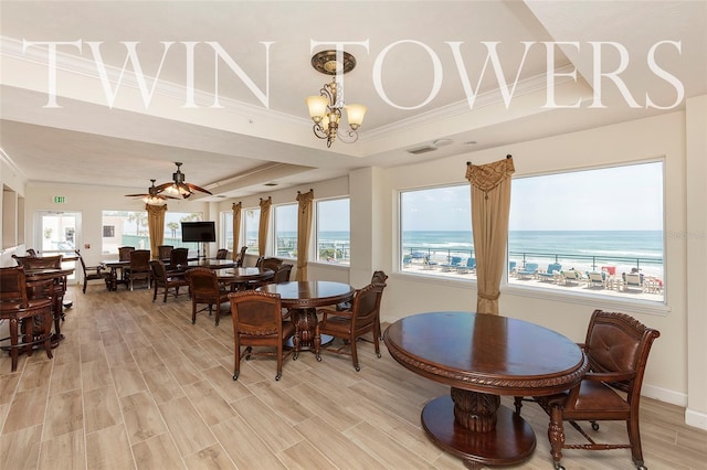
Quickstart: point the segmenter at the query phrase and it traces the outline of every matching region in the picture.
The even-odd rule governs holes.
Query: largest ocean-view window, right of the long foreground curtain
[[[514,179],[508,282],[663,302],[663,162]]]

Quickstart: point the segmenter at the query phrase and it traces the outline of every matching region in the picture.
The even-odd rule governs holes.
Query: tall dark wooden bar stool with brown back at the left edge
[[[10,340],[10,345],[2,346],[2,349],[10,350],[12,372],[18,368],[20,350],[32,355],[32,349],[35,344],[43,343],[46,356],[53,357],[51,345],[52,299],[29,299],[27,289],[28,282],[22,266],[0,268],[0,319],[8,320],[10,323],[10,337],[2,338],[0,341]],[[21,343],[20,332],[23,337]]]

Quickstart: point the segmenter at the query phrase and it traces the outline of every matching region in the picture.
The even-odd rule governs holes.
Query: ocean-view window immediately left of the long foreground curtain
[[[475,277],[468,184],[400,193],[401,270]]]

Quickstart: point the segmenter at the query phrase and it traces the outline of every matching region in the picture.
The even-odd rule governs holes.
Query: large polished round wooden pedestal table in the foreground
[[[532,428],[500,406],[500,395],[545,396],[578,384],[589,364],[568,338],[523,320],[471,312],[403,318],[383,334],[403,366],[450,385],[450,396],[428,403],[422,426],[468,468],[528,459]]]

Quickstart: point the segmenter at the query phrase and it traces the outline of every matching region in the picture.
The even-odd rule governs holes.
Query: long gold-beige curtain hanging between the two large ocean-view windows
[[[498,314],[510,212],[511,156],[483,165],[466,164],[472,185],[472,232],[476,254],[477,313]]]

